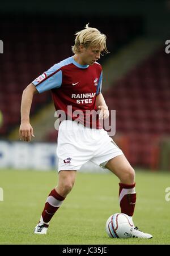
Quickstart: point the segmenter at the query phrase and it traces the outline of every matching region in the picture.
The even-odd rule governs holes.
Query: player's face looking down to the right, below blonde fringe
[[[83,65],[93,65],[95,61],[100,58],[100,49],[97,48],[84,48],[81,54]]]

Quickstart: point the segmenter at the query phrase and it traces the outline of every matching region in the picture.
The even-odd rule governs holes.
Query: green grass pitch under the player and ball
[[[170,244],[169,173],[136,171],[137,204],[134,223],[154,237],[150,240],[114,239],[105,232],[105,222],[120,212],[118,179],[112,173],[78,173],[73,190],[50,222],[48,234],[33,234],[50,190],[56,186],[56,171],[0,170],[0,244],[115,245]]]

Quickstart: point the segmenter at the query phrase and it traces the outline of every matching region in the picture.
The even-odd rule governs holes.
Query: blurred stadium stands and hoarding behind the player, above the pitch
[[[170,171],[170,1],[3,2],[0,9],[0,168],[55,169],[57,131],[50,92],[35,95],[32,142],[19,141],[22,92],[73,55],[90,23],[107,35],[103,95],[116,110],[113,140],[133,167]],[[3,42],[3,44],[2,44]],[[3,47],[3,48],[2,48]],[[2,51],[3,50],[3,51]],[[99,171],[90,163],[83,170]]]

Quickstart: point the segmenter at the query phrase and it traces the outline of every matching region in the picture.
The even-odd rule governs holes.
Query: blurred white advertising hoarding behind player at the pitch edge
[[[58,169],[55,143],[0,141],[0,168],[52,170]],[[83,172],[105,172],[94,163],[82,166]]]

